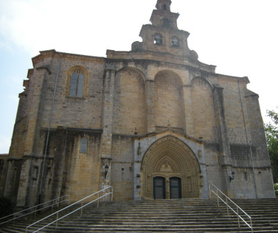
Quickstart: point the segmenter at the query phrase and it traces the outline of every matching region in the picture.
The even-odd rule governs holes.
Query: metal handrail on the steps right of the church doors
[[[215,191],[213,191],[213,190],[211,189],[211,186],[213,186],[214,188],[216,188],[216,193],[215,193]],[[226,202],[225,202],[222,198],[220,198],[220,195],[218,195],[218,191],[219,191],[222,195],[224,195],[224,197],[226,198]],[[252,218],[251,218],[248,214],[246,214],[245,211],[243,211],[243,209],[241,209],[235,202],[233,202],[230,198],[228,198],[227,195],[225,195],[224,193],[222,193],[222,191],[220,191],[220,189],[219,189],[218,187],[216,187],[214,184],[209,184],[209,198],[210,198],[210,199],[211,199],[211,193],[214,193],[214,194],[217,196],[217,198],[218,198],[218,208],[219,208],[219,199],[220,199],[220,200],[222,200],[222,202],[223,202],[224,204],[226,204],[226,206],[227,206],[227,215],[228,215],[228,216],[229,216],[229,209],[231,209],[231,211],[233,211],[234,214],[236,214],[236,216],[238,216],[238,228],[240,228],[240,220],[239,220],[239,219],[241,219],[241,220],[243,220],[243,223],[245,223],[248,227],[251,228],[252,233],[253,233]],[[236,206],[236,211],[235,211],[233,208],[231,208],[231,207],[229,206],[228,200]],[[243,219],[243,217],[241,217],[241,216],[238,214],[238,210],[242,211],[243,214],[244,214],[245,216],[247,216],[247,218],[250,219],[250,224],[247,223],[247,222]]]

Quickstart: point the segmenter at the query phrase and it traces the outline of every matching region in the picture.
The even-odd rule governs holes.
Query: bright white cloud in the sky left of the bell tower
[[[139,16],[146,2],[136,13],[129,10],[119,15],[115,9],[132,9],[133,1],[10,0],[2,5],[0,33],[6,40],[2,46],[13,43],[31,56],[47,49],[94,56],[105,56],[106,49],[129,50],[133,41],[140,40],[140,26],[148,22],[154,7],[149,6],[144,20]]]

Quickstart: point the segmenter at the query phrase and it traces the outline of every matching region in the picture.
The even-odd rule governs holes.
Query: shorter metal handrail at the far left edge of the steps
[[[67,197],[68,197],[68,199],[61,200],[61,199],[63,199],[63,198],[67,198]],[[59,202],[55,202],[56,200],[60,200],[60,201],[59,201]],[[49,203],[49,202],[52,202],[52,204],[49,204],[49,205],[47,205],[46,207],[42,207],[42,208],[40,208],[40,209],[37,209],[37,207],[39,207],[39,206],[41,206],[41,205],[44,205],[44,204],[47,204],[47,203]],[[14,214],[10,214],[10,215],[8,215],[8,216],[5,216],[5,217],[3,217],[3,218],[0,218],[0,220],[1,220],[1,219],[4,219],[4,218],[8,218],[8,217],[14,216],[14,218],[11,218],[10,220],[6,220],[5,222],[0,223],[0,225],[2,225],[2,224],[4,224],[4,223],[8,223],[8,222],[10,222],[10,221],[13,221],[13,220],[15,220],[15,219],[17,219],[17,218],[22,218],[22,217],[27,216],[27,215],[29,215],[29,214],[35,213],[35,215],[36,215],[36,213],[37,213],[38,211],[40,211],[40,210],[42,210],[42,209],[47,209],[47,208],[49,208],[49,207],[54,207],[54,205],[60,204],[60,203],[62,203],[62,202],[67,202],[67,204],[70,204],[70,195],[64,195],[63,197],[55,198],[55,199],[53,199],[53,200],[49,200],[49,201],[47,201],[47,202],[43,202],[43,203],[41,203],[41,204],[37,204],[37,205],[35,205],[35,206],[33,206],[33,207],[29,207],[29,208],[24,209],[24,210],[22,210],[22,211],[18,211],[18,212],[14,213]],[[23,215],[17,216],[18,214],[20,214],[20,213],[22,213],[22,212],[24,212],[24,211],[28,211],[29,209],[33,209],[33,208],[35,208],[34,211],[28,212],[27,214],[23,214]],[[16,216],[17,216],[17,217],[16,217]]]

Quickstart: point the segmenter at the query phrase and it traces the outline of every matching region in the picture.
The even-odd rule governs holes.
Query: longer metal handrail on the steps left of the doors
[[[104,195],[101,195],[101,197],[99,197],[99,193],[106,191],[106,189],[108,189],[108,188],[111,188],[111,191],[108,192],[108,193],[106,193],[106,194],[104,194]],[[81,209],[81,216],[82,216],[82,214],[83,214],[83,208],[84,208],[84,207],[88,206],[89,204],[91,204],[92,202],[95,202],[95,201],[97,201],[97,207],[99,207],[99,200],[100,200],[101,198],[106,197],[106,195],[110,195],[110,194],[111,194],[111,200],[113,200],[113,187],[112,187],[112,186],[108,186],[107,188],[101,189],[101,191],[97,191],[96,193],[92,193],[91,195],[88,195],[87,197],[85,197],[85,198],[83,198],[83,199],[81,199],[81,200],[79,200],[79,201],[77,201],[77,202],[74,202],[73,204],[70,204],[68,207],[65,207],[65,208],[63,208],[63,209],[60,209],[59,211],[56,211],[55,213],[50,214],[49,216],[46,216],[45,218],[42,218],[42,219],[38,220],[37,222],[35,222],[35,223],[31,224],[31,225],[28,225],[28,226],[26,227],[26,233],[28,232],[28,228],[29,228],[29,227],[31,227],[31,226],[33,226],[33,225],[35,225],[35,224],[37,224],[37,223],[40,223],[42,220],[45,220],[45,219],[47,219],[47,218],[49,218],[49,217],[51,217],[51,216],[54,216],[55,214],[56,214],[56,220],[52,221],[51,223],[48,223],[47,225],[44,225],[44,227],[41,227],[41,228],[38,229],[38,230],[35,230],[35,232],[38,232],[38,231],[44,229],[45,227],[48,227],[49,225],[51,225],[51,224],[53,224],[53,223],[56,223],[55,229],[57,230],[57,223],[58,223],[58,220],[61,220],[62,218],[65,218],[65,217],[69,216],[70,214],[73,214],[74,212],[78,211],[79,209]],[[83,200],[86,200],[86,199],[92,197],[93,195],[97,195],[97,198],[96,198],[95,200],[92,200],[91,202],[88,202],[87,204],[84,204],[84,205],[83,205]],[[74,206],[75,204],[80,203],[80,202],[81,202],[81,207],[79,207],[78,209],[75,209],[74,211],[71,211],[69,214],[66,214],[65,216],[62,216],[62,217],[58,218],[58,214],[59,214],[61,211],[64,211],[65,209],[68,209],[68,208],[70,208],[70,207],[72,207],[72,206]],[[33,232],[33,233],[35,233],[35,232]]]

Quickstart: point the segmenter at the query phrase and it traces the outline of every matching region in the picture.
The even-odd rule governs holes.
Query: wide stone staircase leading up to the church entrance
[[[234,200],[252,216],[254,232],[278,232],[278,199]],[[62,214],[60,216],[63,216]],[[31,227],[34,232],[51,220]],[[22,222],[0,225],[0,232],[25,232],[29,218]],[[251,232],[238,218],[227,216],[225,207],[217,208],[216,200],[181,199],[129,202],[102,202],[80,211],[40,232]]]

